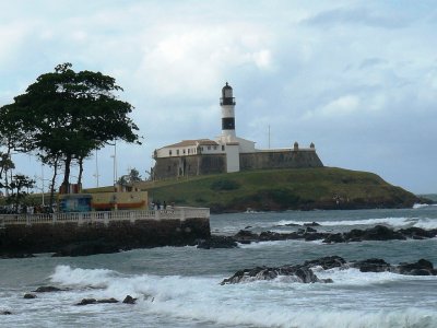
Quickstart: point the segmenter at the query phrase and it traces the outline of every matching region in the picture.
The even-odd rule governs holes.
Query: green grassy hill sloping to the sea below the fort
[[[213,212],[402,208],[420,201],[379,176],[343,168],[247,171],[139,185],[154,200]]]

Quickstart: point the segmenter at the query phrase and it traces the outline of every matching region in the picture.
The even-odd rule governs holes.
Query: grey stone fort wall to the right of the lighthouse
[[[322,167],[316,151],[272,151],[239,154],[241,171],[265,168]]]

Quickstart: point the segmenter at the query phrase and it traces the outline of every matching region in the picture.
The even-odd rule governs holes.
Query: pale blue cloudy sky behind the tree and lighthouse
[[[327,166],[437,192],[436,31],[427,0],[0,0],[0,106],[58,63],[109,74],[144,137],[117,147],[117,174],[144,176],[154,149],[220,134],[227,81],[237,134],[258,148],[270,126],[272,148],[314,142]],[[101,185],[113,152],[97,155]]]

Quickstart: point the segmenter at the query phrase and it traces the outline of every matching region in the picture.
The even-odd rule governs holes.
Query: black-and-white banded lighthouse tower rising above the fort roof
[[[222,89],[220,106],[222,108],[222,140],[224,142],[234,142],[236,140],[235,98],[233,96],[233,89],[227,82]]]

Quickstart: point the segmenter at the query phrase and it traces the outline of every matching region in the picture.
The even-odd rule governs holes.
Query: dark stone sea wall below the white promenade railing
[[[51,253],[69,244],[104,242],[120,248],[192,245],[210,236],[209,219],[137,220],[104,223],[11,224],[0,229],[0,254]]]

